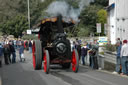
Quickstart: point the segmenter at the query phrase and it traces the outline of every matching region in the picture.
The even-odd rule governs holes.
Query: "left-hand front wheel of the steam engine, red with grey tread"
[[[48,74],[49,73],[49,68],[50,68],[50,66],[49,66],[50,59],[49,59],[49,52],[48,52],[48,50],[45,50],[43,59],[44,59],[44,72],[46,74]]]

